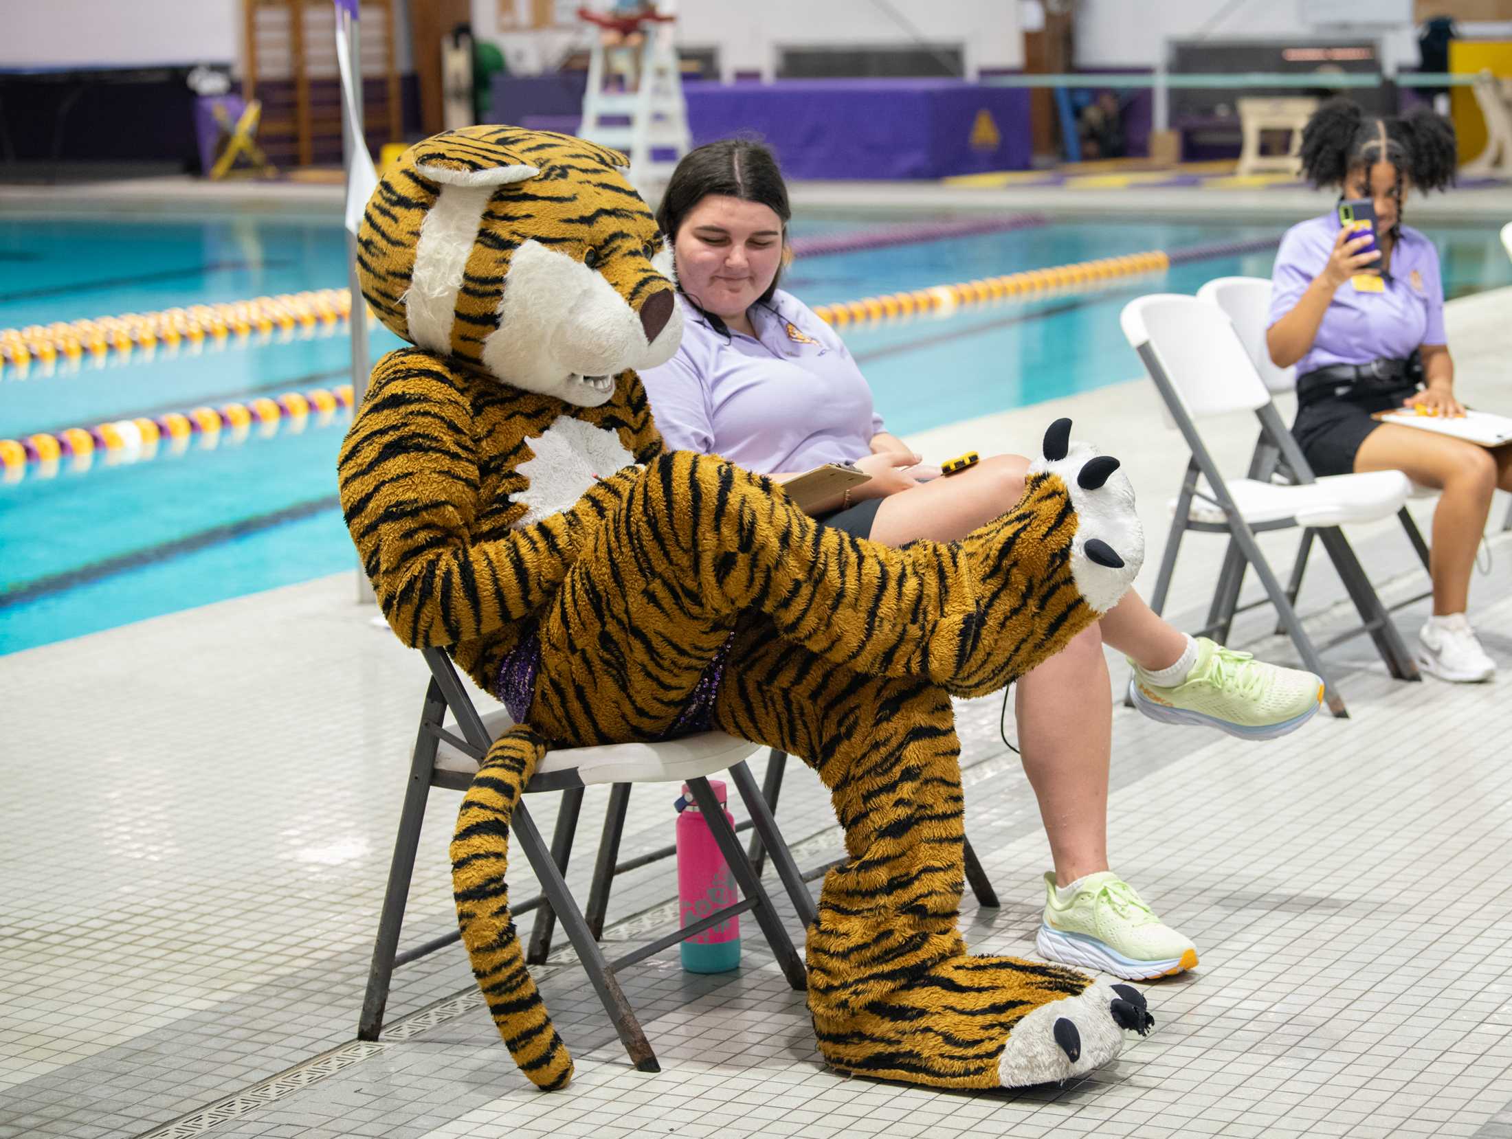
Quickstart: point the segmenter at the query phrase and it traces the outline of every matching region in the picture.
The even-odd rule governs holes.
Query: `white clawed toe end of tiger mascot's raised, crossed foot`
[[[1070,571],[1077,589],[1095,610],[1119,603],[1145,563],[1145,530],[1134,509],[1134,486],[1111,455],[1089,443],[1070,441],[1070,420],[1055,420],[1045,432],[1045,456],[1033,474],[1054,474],[1077,511]]]

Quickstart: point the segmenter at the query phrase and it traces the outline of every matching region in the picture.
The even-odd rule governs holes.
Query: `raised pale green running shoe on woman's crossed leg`
[[[1198,637],[1198,663],[1181,684],[1161,687],[1129,665],[1129,699],[1146,716],[1161,724],[1205,724],[1241,740],[1296,731],[1323,702],[1323,681],[1312,672],[1267,665],[1207,637]]]

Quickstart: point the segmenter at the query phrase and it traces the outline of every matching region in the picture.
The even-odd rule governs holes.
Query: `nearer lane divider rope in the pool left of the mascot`
[[[20,482],[26,474],[47,479],[62,470],[82,474],[94,465],[97,456],[115,465],[183,455],[191,443],[210,450],[221,443],[243,443],[253,435],[271,438],[280,429],[298,434],[311,423],[327,426],[339,411],[351,406],[352,385],[339,384],[333,388],[289,391],[278,399],[260,396],[246,403],[200,406],[112,420],[94,428],[65,428],[21,440],[0,440],[0,482]]]

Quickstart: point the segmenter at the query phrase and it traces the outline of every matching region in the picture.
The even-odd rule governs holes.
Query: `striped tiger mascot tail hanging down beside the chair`
[[[546,754],[546,740],[516,727],[494,740],[473,776],[452,835],[452,893],[478,988],[514,1062],[543,1091],[565,1088],[572,1056],[525,968],[510,917],[510,820]]]

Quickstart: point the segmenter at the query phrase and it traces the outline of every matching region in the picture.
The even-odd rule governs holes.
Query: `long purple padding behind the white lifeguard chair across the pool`
[[[494,77],[496,122],[582,104],[581,76]],[[857,79],[683,83],[694,145],[758,136],[792,178],[945,178],[1028,169],[1028,92],[959,80]],[[981,113],[983,130],[975,130]],[[990,125],[989,125],[990,124]],[[558,125],[559,128],[559,125]]]

